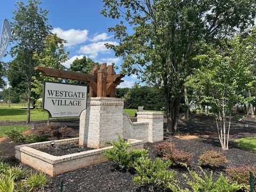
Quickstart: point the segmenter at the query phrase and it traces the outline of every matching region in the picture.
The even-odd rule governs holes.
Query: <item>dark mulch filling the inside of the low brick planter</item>
[[[42,148],[37,148],[37,150],[40,150],[47,154],[55,155],[55,156],[80,153],[82,151],[88,151],[88,150],[93,150],[93,149],[94,148],[79,146],[76,143],[69,143],[69,144],[65,144],[65,145],[61,145],[61,146],[53,146],[53,147],[46,146],[46,147],[42,147]]]

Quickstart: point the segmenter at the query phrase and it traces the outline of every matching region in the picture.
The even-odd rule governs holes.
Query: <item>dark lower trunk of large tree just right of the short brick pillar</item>
[[[178,120],[180,111],[180,98],[173,97],[169,93],[165,94],[166,97],[166,117],[167,117],[167,132],[177,132]]]

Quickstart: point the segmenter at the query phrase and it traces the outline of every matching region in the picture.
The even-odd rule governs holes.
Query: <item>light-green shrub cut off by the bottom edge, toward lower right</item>
[[[192,190],[181,190],[183,191],[207,191],[207,192],[235,192],[241,188],[243,185],[239,185],[237,182],[230,183],[230,181],[224,177],[222,174],[219,175],[216,181],[213,181],[212,172],[210,175],[207,175],[203,170],[203,177],[199,176],[195,171],[189,171],[190,178],[187,174],[183,174],[183,177],[187,181],[187,184],[191,187]]]

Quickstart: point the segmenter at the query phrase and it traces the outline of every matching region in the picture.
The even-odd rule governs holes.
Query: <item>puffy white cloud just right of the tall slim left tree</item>
[[[73,46],[79,43],[84,43],[88,39],[88,30],[62,30],[61,28],[53,28],[52,33],[57,34],[60,38],[65,39],[67,43],[64,46]]]

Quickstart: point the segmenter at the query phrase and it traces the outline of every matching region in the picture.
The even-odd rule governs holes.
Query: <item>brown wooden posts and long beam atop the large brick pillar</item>
[[[90,97],[115,97],[116,86],[124,82],[121,80],[124,75],[116,75],[113,66],[107,66],[107,63],[102,63],[100,66],[95,65],[90,74],[39,66],[35,67],[35,70],[44,76],[86,81],[90,86]]]

